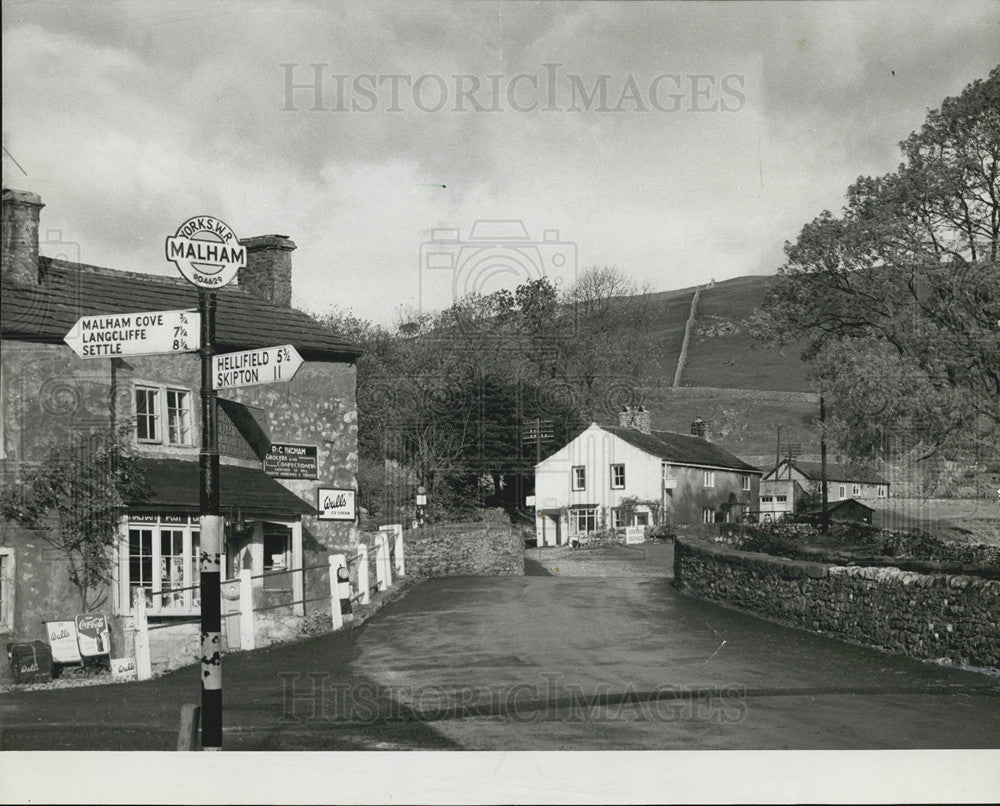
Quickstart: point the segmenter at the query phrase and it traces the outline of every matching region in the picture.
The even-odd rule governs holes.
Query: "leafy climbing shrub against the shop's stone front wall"
[[[148,490],[130,431],[78,434],[53,442],[41,463],[0,488],[0,512],[38,529],[69,567],[82,612],[107,598],[118,518]]]

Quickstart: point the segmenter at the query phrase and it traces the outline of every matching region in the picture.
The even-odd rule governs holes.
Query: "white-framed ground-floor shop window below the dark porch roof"
[[[201,597],[192,586],[199,581],[198,526],[185,516],[144,516],[142,520],[128,525],[128,556],[120,566],[121,609],[127,612],[135,591],[142,590],[152,614],[197,612]]]

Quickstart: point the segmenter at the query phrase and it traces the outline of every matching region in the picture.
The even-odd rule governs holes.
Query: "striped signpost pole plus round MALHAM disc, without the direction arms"
[[[222,569],[224,524],[219,501],[219,431],[212,377],[216,290],[246,265],[246,247],[222,221],[195,216],[167,238],[167,260],[198,287],[201,357],[201,452],[198,456],[201,582],[201,746],[222,749]]]

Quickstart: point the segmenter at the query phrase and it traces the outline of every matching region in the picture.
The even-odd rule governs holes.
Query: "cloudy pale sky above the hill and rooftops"
[[[216,215],[298,244],[299,307],[386,323],[518,272],[608,263],[657,290],[772,273],[1000,61],[994,2],[3,12],[3,182],[46,203],[43,254],[171,274],[164,238]],[[520,230],[477,221],[526,235],[490,247]],[[435,228],[457,239],[428,246]],[[506,273],[475,262],[504,243]]]

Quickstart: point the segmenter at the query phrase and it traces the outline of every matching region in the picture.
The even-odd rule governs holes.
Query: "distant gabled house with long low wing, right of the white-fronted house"
[[[804,508],[818,506],[822,496],[822,465],[786,459],[764,474],[760,482],[760,518],[777,520]],[[826,494],[830,503],[888,498],[889,482],[877,473],[827,462]]]

